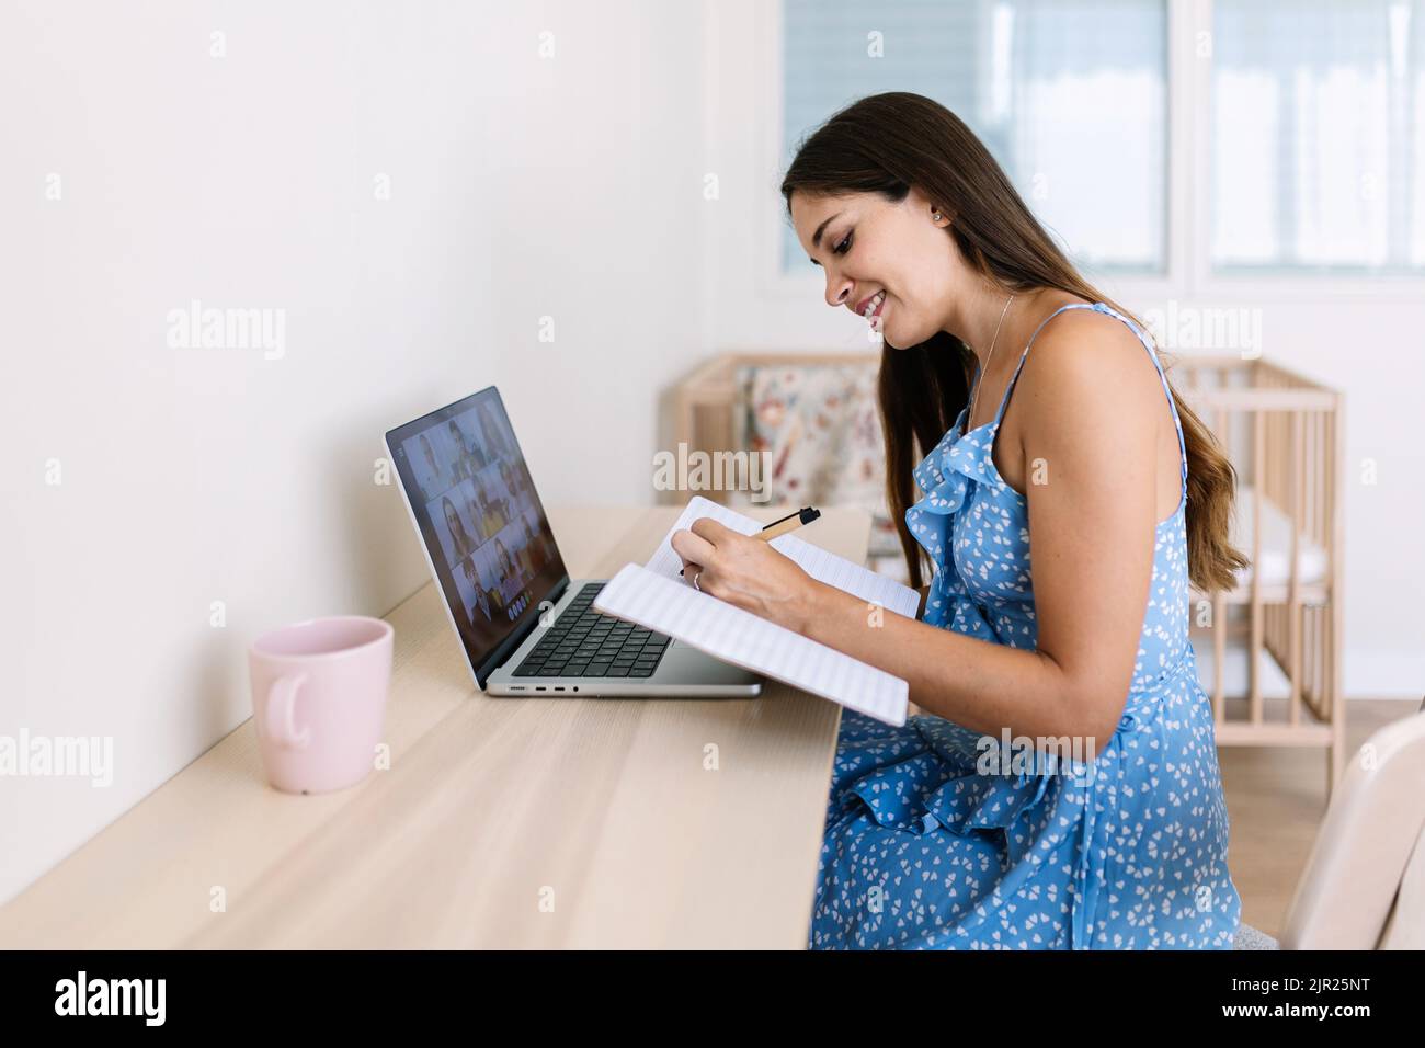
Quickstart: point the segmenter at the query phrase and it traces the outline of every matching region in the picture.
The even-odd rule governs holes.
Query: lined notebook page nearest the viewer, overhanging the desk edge
[[[909,687],[901,677],[700,593],[681,579],[626,565],[594,597],[594,609],[886,724],[905,724]]]

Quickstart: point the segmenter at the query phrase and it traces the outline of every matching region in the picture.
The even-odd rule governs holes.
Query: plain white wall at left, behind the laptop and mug
[[[389,425],[497,382],[547,500],[651,500],[653,391],[704,354],[700,26],[4,6],[0,734],[113,736],[115,769],[0,779],[0,900],[249,714],[258,632],[423,583]],[[285,309],[285,356],[170,348],[191,299]]]

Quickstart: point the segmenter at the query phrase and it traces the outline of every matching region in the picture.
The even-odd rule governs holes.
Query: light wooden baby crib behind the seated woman
[[[1330,794],[1345,744],[1341,394],[1260,358],[1161,356],[1174,388],[1213,428],[1238,473],[1233,540],[1251,562],[1233,590],[1194,587],[1190,597],[1217,743],[1321,747]],[[745,409],[748,369],[856,366],[874,374],[878,362],[878,354],[720,355],[674,389],[674,439],[705,452],[740,451],[735,419]],[[895,559],[874,566],[895,570]],[[1243,663],[1244,673],[1228,672]],[[1280,697],[1267,694],[1268,683]]]

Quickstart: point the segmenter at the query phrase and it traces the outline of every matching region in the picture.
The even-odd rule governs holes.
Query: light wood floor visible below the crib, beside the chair
[[[1347,754],[1418,709],[1416,702],[1352,699],[1347,704]],[[1278,935],[1325,816],[1325,750],[1221,746],[1217,763],[1231,823],[1227,865],[1243,900],[1243,921]]]

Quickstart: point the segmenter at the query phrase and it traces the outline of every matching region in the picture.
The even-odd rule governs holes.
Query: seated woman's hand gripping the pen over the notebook
[[[710,516],[673,533],[683,577],[744,612],[802,633],[821,583],[767,542],[738,535]]]

